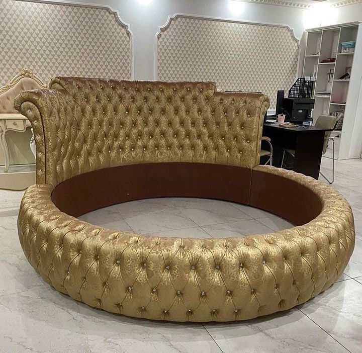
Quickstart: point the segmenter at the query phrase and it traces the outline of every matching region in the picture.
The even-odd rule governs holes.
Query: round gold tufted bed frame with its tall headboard
[[[212,82],[52,79],[22,93],[37,184],[19,238],[34,269],[93,307],[170,321],[232,321],[287,310],[327,289],[354,246],[351,208],[331,187],[261,166],[268,99]],[[244,238],[142,236],[77,216],[153,197],[229,200],[296,227]]]

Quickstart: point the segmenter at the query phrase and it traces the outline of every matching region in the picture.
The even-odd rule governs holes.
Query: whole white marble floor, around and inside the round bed
[[[323,171],[330,169],[323,159]],[[0,191],[0,352],[362,352],[362,159],[337,162],[334,187],[352,205],[357,232],[339,281],[288,312],[226,324],[137,320],[56,292],[36,275],[19,244],[23,193]],[[199,199],[135,201],[81,218],[125,231],[200,238],[291,227],[264,211]]]

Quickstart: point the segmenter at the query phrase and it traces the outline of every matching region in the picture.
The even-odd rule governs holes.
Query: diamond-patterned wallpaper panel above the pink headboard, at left
[[[56,75],[129,79],[131,39],[108,9],[0,0],[0,86],[23,67]]]

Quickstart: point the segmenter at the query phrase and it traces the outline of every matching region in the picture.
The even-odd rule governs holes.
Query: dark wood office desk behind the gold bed
[[[274,166],[281,166],[283,148],[294,149],[293,170],[318,180],[326,131],[332,130],[314,126],[286,128],[265,123],[263,136],[272,140]]]

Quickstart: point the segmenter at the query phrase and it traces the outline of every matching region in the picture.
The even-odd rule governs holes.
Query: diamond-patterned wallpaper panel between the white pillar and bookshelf
[[[256,91],[276,105],[297,75],[299,46],[286,27],[179,16],[158,38],[158,79],[211,80],[218,90]]]

